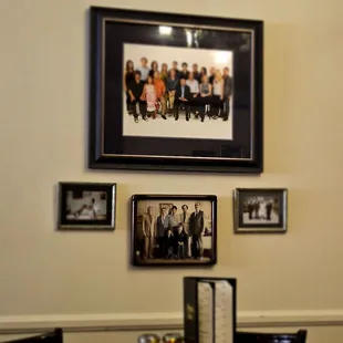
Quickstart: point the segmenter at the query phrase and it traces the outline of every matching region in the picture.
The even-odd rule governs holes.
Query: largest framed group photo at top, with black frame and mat
[[[262,21],[90,12],[90,168],[262,173]]]

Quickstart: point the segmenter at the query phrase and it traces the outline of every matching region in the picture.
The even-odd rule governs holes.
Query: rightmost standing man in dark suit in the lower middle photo
[[[202,236],[205,233],[204,211],[200,210],[200,202],[195,204],[195,211],[190,215],[189,232],[191,235],[191,256],[200,259],[204,252]]]

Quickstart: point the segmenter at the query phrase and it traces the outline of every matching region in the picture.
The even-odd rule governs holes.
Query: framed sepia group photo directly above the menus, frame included
[[[132,264],[217,263],[217,197],[134,195]]]

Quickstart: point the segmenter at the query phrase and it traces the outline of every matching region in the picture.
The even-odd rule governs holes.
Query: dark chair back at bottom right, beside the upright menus
[[[242,332],[236,333],[237,343],[305,343],[306,330],[299,330],[295,333],[264,333]]]

